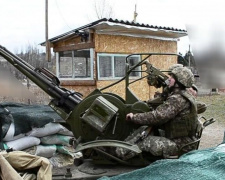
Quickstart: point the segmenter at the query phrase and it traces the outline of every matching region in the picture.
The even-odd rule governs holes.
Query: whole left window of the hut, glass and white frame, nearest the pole
[[[60,79],[93,79],[93,50],[59,52],[57,76]]]

